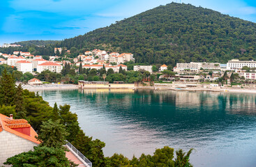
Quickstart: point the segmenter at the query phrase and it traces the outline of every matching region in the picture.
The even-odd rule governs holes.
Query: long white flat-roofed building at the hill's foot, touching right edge
[[[227,62],[227,70],[237,70],[242,67],[247,66],[250,68],[256,67],[255,61],[239,61],[238,59],[232,59],[232,61]]]

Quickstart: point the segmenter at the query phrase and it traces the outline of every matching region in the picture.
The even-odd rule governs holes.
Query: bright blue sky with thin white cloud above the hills
[[[175,0],[176,1],[176,0]],[[22,40],[62,40],[83,35],[167,0],[1,0],[0,45]],[[178,0],[179,2],[179,0]],[[183,0],[256,22],[255,0]]]

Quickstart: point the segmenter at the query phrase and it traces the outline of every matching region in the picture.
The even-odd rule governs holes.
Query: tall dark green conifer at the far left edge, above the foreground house
[[[6,106],[14,105],[15,94],[15,79],[12,74],[7,74],[6,69],[4,69],[0,80],[0,104]]]

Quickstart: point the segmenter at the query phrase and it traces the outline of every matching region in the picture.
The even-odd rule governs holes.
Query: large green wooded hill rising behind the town
[[[59,47],[131,52],[137,63],[256,58],[256,24],[207,8],[170,3],[63,40]]]

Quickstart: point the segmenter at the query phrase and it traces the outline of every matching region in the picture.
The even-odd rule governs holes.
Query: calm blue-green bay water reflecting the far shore
[[[105,156],[153,154],[168,145],[197,166],[256,166],[256,95],[133,90],[45,90],[44,100],[70,104]]]

